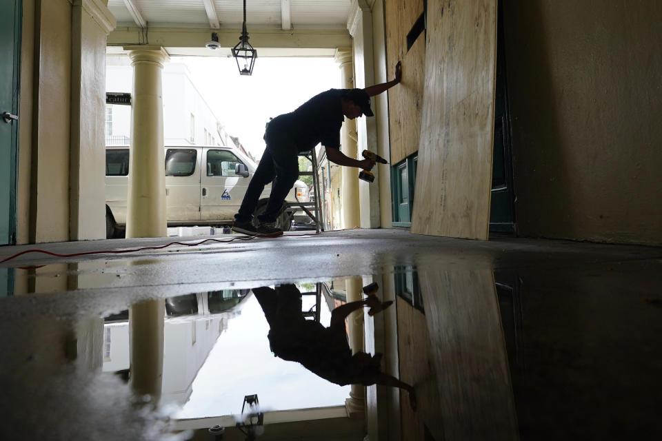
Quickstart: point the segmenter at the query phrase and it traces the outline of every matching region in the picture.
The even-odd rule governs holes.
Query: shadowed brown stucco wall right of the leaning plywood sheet
[[[662,2],[503,2],[523,236],[662,244]]]

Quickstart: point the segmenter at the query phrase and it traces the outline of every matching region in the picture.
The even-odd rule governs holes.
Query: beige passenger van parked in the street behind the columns
[[[238,149],[194,145],[165,147],[165,205],[168,226],[230,225],[257,165]],[[106,237],[126,225],[128,145],[106,147]],[[266,185],[256,215],[271,192]],[[297,181],[285,202],[308,201],[308,187]],[[284,208],[284,207],[283,207]],[[292,224],[294,209],[283,209],[277,226]]]

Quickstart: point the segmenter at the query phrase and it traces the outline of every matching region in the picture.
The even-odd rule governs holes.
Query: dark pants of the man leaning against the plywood
[[[269,202],[263,214],[257,218],[261,222],[275,222],[283,207],[285,196],[299,178],[299,150],[290,136],[272,129],[272,127],[267,127],[265,141],[267,141],[267,147],[262,159],[248,184],[241,207],[239,207],[239,213],[234,215],[238,222],[247,222],[253,218],[264,186],[270,182],[273,183]]]

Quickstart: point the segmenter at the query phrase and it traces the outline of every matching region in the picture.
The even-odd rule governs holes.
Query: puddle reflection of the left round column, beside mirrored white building
[[[149,394],[156,403],[163,377],[163,299],[146,300],[129,308],[131,387],[138,395]]]

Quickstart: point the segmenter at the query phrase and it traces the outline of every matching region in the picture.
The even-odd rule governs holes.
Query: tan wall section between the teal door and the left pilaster
[[[67,240],[71,4],[24,0],[17,243]]]

